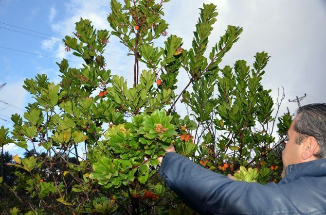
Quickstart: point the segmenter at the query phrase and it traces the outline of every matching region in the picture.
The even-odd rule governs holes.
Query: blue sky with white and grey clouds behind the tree
[[[72,35],[80,17],[90,19],[96,29],[110,30],[107,15],[109,0],[0,0],[0,126],[10,128],[12,114],[23,115],[24,107],[34,102],[22,87],[23,81],[36,74],[47,74],[50,82],[58,83],[58,67],[62,58],[71,66],[81,61],[64,50],[62,38]],[[218,42],[227,25],[243,27],[243,33],[225,55],[220,67],[232,66],[236,60],[254,63],[256,52],[271,55],[262,83],[272,89],[284,87],[285,99],[279,113],[293,114],[298,108],[289,99],[307,96],[301,105],[326,102],[326,1],[325,0],[170,0],[165,3],[168,35],[183,38],[189,50],[199,8],[203,3],[217,5],[217,22],[210,36],[210,47]],[[163,38],[165,39],[165,38]],[[162,46],[162,39],[157,42]],[[111,36],[106,49],[108,68],[131,83],[133,59],[127,49]],[[208,49],[209,50],[209,49]],[[184,81],[183,81],[184,82]],[[180,82],[182,89],[185,83]],[[5,146],[12,154],[22,154],[14,144]]]

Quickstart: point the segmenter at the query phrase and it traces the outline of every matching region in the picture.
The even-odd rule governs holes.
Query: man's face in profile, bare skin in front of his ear
[[[295,143],[298,132],[294,131],[293,127],[296,122],[296,118],[292,121],[290,129],[288,131],[287,140],[285,148],[282,152],[282,161],[283,161],[283,172],[282,177],[285,176],[285,169],[288,165],[300,163],[300,145]]]

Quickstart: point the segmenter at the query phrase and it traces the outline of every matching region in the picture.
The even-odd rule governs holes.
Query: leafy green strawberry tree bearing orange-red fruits
[[[177,35],[156,46],[155,40],[168,35],[163,19],[168,1],[111,0],[111,31],[96,30],[91,20],[81,18],[74,35],[63,39],[65,50],[83,59],[81,67],[63,59],[57,63],[60,83],[44,74],[25,80],[23,87],[35,102],[23,117],[12,116],[9,142],[31,156],[15,155],[15,163],[8,164],[17,168],[11,192],[19,203],[7,211],[191,213],[158,177],[157,158],[171,144],[213,171],[234,174],[240,169],[238,180],[279,179],[279,152],[291,118],[279,117],[275,140],[274,101],[271,90],[261,85],[270,57],[257,53],[252,69],[244,60],[219,67],[242,28],[228,26],[207,51],[218,15],[214,4],[200,9],[192,47],[183,47]],[[111,72],[104,57],[112,35],[134,57],[131,87],[126,77]],[[189,79],[177,93],[179,72]],[[180,103],[188,114],[180,112]],[[8,140],[7,130],[1,131],[0,140]]]

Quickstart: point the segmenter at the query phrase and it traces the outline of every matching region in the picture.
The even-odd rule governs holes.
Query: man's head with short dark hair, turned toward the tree
[[[288,165],[326,158],[326,104],[300,107],[290,125],[282,153],[283,172]]]

